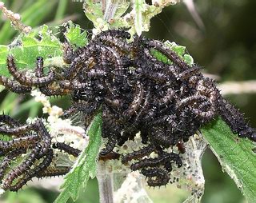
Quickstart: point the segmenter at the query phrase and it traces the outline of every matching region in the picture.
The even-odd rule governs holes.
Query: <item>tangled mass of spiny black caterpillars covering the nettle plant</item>
[[[255,130],[246,124],[233,105],[222,98],[215,82],[203,77],[198,66],[189,66],[162,42],[142,37],[127,42],[129,38],[130,34],[125,30],[108,30],[84,47],[75,49],[66,42],[63,58],[68,68],[62,72],[50,69],[45,75],[43,59],[38,57],[33,77],[18,71],[14,57],[9,56],[7,67],[13,79],[1,76],[0,84],[18,94],[30,92],[33,86],[49,96],[69,94],[73,104],[65,116],[82,112],[86,115],[86,125],[102,110],[102,137],[107,139],[100,152],[102,160],[118,158],[114,147],[133,140],[140,132],[141,149],[120,155],[123,164],[133,161],[130,168],[140,170],[150,186],[166,185],[170,181],[173,165],[182,166],[181,157],[171,149],[177,145],[180,153],[184,153],[183,142],[218,115],[234,133],[238,133],[238,137],[256,141]],[[158,60],[152,50],[166,56],[170,63]],[[18,150],[23,153],[23,149],[30,149],[33,157],[22,163],[29,173],[22,168],[19,173],[16,169],[7,174],[4,189],[18,190],[32,177],[66,173],[68,169],[50,168],[53,155],[49,154],[53,148],[78,155],[77,150],[66,144],[52,145],[42,122],[38,125],[38,121],[23,126],[10,117],[0,116],[0,133],[23,137],[8,144],[1,142],[1,154],[16,157]],[[31,131],[34,133],[30,134]],[[33,150],[35,146],[40,149]],[[153,152],[155,157],[149,157]],[[42,164],[30,169],[38,159],[43,160]],[[1,172],[6,169],[7,162],[5,160],[0,165]],[[12,185],[20,174],[23,177]]]

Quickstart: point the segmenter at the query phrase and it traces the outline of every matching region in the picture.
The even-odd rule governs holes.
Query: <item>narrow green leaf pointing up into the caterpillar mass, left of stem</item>
[[[102,142],[102,113],[94,117],[87,133],[90,137],[89,145],[79,155],[70,173],[66,174],[61,187],[62,193],[55,203],[66,203],[70,197],[76,201],[80,190],[86,189],[89,178],[96,176],[98,153]]]

